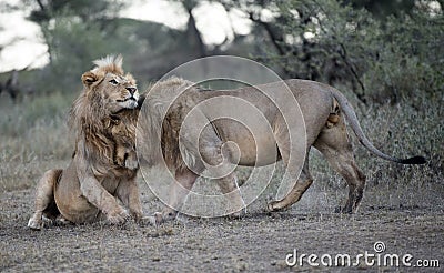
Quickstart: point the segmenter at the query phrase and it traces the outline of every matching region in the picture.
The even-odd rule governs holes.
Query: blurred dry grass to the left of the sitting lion
[[[42,170],[65,165],[73,142],[65,125],[72,98],[52,94],[13,104],[0,100],[0,190],[33,186]]]

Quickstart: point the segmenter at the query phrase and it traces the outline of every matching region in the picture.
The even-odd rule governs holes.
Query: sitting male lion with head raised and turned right
[[[124,74],[120,55],[93,63],[82,74],[84,88],[70,111],[75,152],[67,169],[49,170],[40,179],[30,229],[42,228],[42,215],[77,224],[100,220],[120,224],[130,215],[135,220],[143,215],[132,155],[139,105],[135,80]]]

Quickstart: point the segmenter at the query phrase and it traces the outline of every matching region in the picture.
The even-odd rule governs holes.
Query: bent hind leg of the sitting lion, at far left
[[[29,219],[28,226],[32,230],[40,230],[43,225],[42,216],[56,219],[59,210],[56,205],[53,189],[59,180],[62,170],[54,169],[47,171],[37,184],[36,211]]]

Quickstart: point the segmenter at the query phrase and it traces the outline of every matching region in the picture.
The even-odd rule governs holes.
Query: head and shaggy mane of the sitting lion
[[[82,74],[83,90],[70,111],[70,125],[77,132],[77,152],[95,166],[112,162],[112,138],[107,120],[125,109],[138,107],[134,78],[124,73],[122,57],[105,57]],[[99,171],[100,172],[100,171]]]

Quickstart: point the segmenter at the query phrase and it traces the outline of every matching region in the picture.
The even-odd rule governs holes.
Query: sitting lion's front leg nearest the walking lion
[[[127,181],[121,181],[115,191],[117,196],[130,210],[131,216],[139,221],[143,216],[140,192],[135,176]]]

